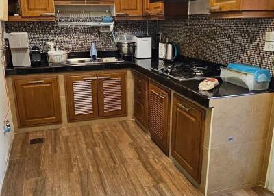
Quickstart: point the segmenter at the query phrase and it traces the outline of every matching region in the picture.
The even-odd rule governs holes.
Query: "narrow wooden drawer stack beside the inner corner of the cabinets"
[[[149,130],[149,79],[134,72],[134,118],[143,130]]]

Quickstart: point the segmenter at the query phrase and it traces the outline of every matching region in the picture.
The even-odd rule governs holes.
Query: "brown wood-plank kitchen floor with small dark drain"
[[[44,138],[44,143],[29,140]],[[229,196],[270,196],[262,188]],[[201,195],[134,121],[14,136],[1,195]],[[228,196],[224,195],[224,196]]]

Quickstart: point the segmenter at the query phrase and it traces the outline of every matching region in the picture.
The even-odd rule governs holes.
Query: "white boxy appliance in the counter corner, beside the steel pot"
[[[152,57],[152,38],[147,36],[135,36],[136,49],[135,58],[151,58]]]

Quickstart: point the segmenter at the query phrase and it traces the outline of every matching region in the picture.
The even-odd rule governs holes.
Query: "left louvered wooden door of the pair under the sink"
[[[66,76],[68,120],[88,120],[98,117],[97,76]]]

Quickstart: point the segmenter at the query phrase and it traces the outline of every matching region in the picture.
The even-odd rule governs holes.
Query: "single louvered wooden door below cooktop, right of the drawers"
[[[169,154],[170,91],[149,83],[149,132],[152,140]]]

